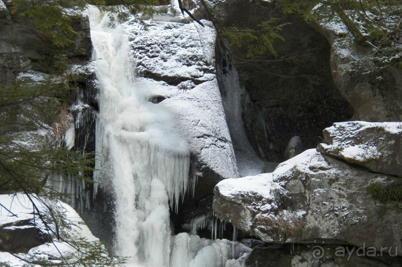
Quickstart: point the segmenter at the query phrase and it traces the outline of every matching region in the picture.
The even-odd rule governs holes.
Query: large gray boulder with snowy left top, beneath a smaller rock
[[[368,193],[373,183],[395,186],[401,179],[311,149],[271,174],[221,181],[213,207],[221,219],[266,242],[324,239],[377,250],[398,247],[401,256],[402,212],[374,199]]]

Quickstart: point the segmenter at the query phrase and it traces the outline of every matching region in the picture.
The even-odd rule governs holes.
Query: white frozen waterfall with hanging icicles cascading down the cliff
[[[150,102],[135,82],[125,35],[130,26],[109,27],[108,16],[94,6],[88,13],[100,88],[94,180],[95,187],[109,183],[115,194],[115,254],[129,257],[130,267],[240,266],[230,260],[233,242],[171,236],[169,203],[177,209],[187,190],[189,145],[175,130],[174,114]],[[240,257],[244,249],[238,251]]]

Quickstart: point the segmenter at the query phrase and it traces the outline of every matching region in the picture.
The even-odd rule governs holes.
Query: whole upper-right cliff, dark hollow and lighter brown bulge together
[[[198,17],[208,17],[195,1],[183,3]],[[379,64],[368,60],[378,53],[372,46],[353,48],[352,37],[342,23],[323,20],[306,24],[297,15],[284,15],[278,1],[226,0],[207,4],[223,26],[256,29],[257,24],[272,17],[280,18],[279,23],[291,23],[280,33],[285,42],[274,42],[278,58],[251,58],[258,66],[248,60],[235,62],[250,99],[264,112],[268,136],[279,154],[283,155],[287,141],[294,135],[303,137],[307,148],[315,147],[321,130],[334,121],[402,120],[401,68],[396,64],[381,65],[384,59],[380,57]],[[392,46],[400,45],[401,38],[393,39]],[[241,57],[247,50],[230,49]],[[398,64],[396,58],[393,61]],[[249,114],[243,116],[245,122],[250,118]],[[254,139],[253,133],[247,134],[249,140]]]

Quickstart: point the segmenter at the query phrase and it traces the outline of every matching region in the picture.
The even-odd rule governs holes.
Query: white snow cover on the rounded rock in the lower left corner
[[[32,242],[32,239],[37,239],[38,235],[40,235],[42,239],[42,241],[36,241],[36,243],[42,243],[41,245],[31,248],[27,254],[17,253],[17,257],[26,259],[27,261],[49,260],[50,263],[56,264],[59,263],[62,258],[69,259],[71,256],[78,256],[77,250],[74,249],[69,242],[57,240],[52,231],[54,233],[59,231],[63,239],[66,241],[85,238],[88,242],[99,242],[71,206],[61,201],[39,198],[34,194],[31,194],[30,197],[42,214],[41,216],[47,223],[48,228],[40,219],[37,212],[33,215],[33,204],[25,194],[17,193],[14,195],[0,195],[0,203],[2,205],[0,207],[0,230],[9,230],[10,232],[7,232],[7,234],[11,237],[14,236],[12,231],[21,232],[22,234],[19,242],[22,242],[22,244],[33,244],[34,242]],[[63,214],[67,225],[60,226],[60,224],[60,228],[56,230],[54,222],[49,217],[49,207],[52,208],[56,214]],[[51,231],[48,231],[49,228]],[[38,235],[24,236],[22,231],[27,231],[29,229],[35,229]],[[32,231],[29,233],[32,233]],[[11,242],[15,242],[15,240]],[[7,242],[4,242],[2,246],[7,247]],[[103,245],[99,243],[98,246]],[[105,248],[103,249],[105,250]],[[0,266],[2,266],[2,264],[19,267],[26,265],[26,262],[17,259],[8,252],[0,252]]]

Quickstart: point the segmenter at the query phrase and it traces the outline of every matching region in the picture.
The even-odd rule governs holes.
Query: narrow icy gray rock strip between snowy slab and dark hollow
[[[239,74],[223,47],[217,45],[217,76],[222,95],[226,121],[228,123],[236,164],[242,177],[262,173],[266,160],[277,162],[265,129],[262,112],[252,103],[250,96],[239,81]],[[257,116],[260,114],[261,116]]]

